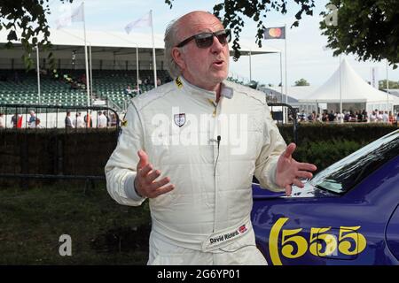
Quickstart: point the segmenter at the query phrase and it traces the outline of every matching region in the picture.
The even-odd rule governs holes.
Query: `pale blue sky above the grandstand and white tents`
[[[203,10],[213,11],[215,4],[222,0],[175,0],[173,8],[169,9],[164,0],[85,0],[85,24],[86,30],[102,30],[123,32],[124,27],[131,21],[140,19],[153,10],[153,30],[155,34],[164,34],[165,27],[172,19],[177,19],[189,11]],[[303,15],[299,27],[290,28],[294,21],[294,14],[299,6],[293,1],[288,1],[287,13],[282,15],[277,11],[270,11],[267,18],[263,20],[266,27],[286,28],[286,73],[288,85],[294,85],[301,78],[308,80],[312,86],[321,86],[330,78],[340,64],[340,59],[347,58],[356,73],[364,80],[371,80],[372,67],[376,67],[377,80],[399,80],[399,68],[393,70],[386,61],[382,62],[359,62],[356,56],[342,55],[332,57],[332,50],[326,50],[327,38],[321,35],[319,13],[325,11],[326,0],[317,0],[313,16]],[[82,0],[74,0],[73,4],[61,4],[59,0],[50,0],[51,14],[48,16],[50,27],[56,27],[55,20],[68,8],[77,7]],[[338,19],[339,20],[339,19]],[[82,27],[81,23],[74,23],[73,28]],[[140,32],[151,33],[150,27],[142,27]],[[255,41],[256,24],[252,19],[246,19],[241,37],[252,42]],[[263,40],[262,46],[268,46],[285,51],[284,40]],[[278,85],[280,83],[280,57],[278,54],[262,54],[251,57],[252,80],[263,84]],[[283,57],[283,81],[285,81]],[[234,78],[247,81],[250,79],[249,58],[240,57],[238,62],[231,58],[230,74]]]

